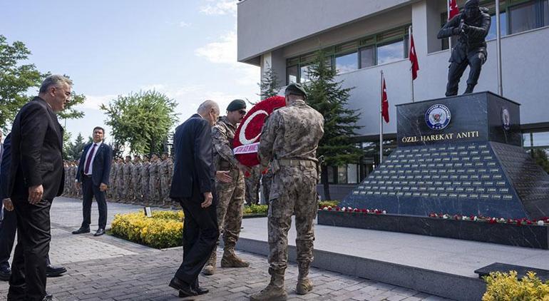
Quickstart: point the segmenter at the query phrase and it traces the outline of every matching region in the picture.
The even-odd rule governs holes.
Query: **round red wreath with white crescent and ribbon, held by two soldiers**
[[[246,166],[255,166],[260,163],[257,160],[257,151],[259,151],[261,130],[265,119],[275,109],[283,106],[286,106],[284,97],[272,96],[256,103],[244,116],[232,141],[232,152],[240,163]]]

